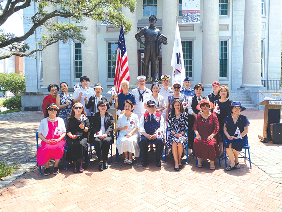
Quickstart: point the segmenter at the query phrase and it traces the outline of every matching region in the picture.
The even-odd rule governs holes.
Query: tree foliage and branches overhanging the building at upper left
[[[0,0],[2,2],[2,0]],[[17,37],[12,33],[6,33],[0,29],[0,48],[9,46],[12,53],[1,55],[0,59],[17,56],[33,56],[36,51],[43,51],[49,45],[61,40],[66,43],[70,40],[84,42],[82,30],[87,30],[81,26],[81,22],[93,19],[103,21],[109,25],[120,27],[122,21],[124,33],[131,30],[132,24],[120,8],[127,7],[130,12],[135,11],[135,0],[18,0],[3,1],[0,5],[0,26],[15,12],[37,4],[37,12],[32,17],[25,17],[30,21],[30,30],[23,36]],[[56,23],[54,18],[66,18],[64,22]],[[72,21],[69,21],[68,19]],[[27,42],[36,28],[44,26],[47,30],[42,35],[42,39],[37,41],[40,46],[37,49],[30,49]],[[19,52],[22,53],[19,53]]]

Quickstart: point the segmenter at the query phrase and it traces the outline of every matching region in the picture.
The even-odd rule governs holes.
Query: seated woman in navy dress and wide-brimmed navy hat
[[[242,147],[247,144],[247,133],[250,122],[246,116],[240,115],[241,111],[246,110],[245,107],[241,106],[240,102],[232,102],[231,105],[227,106],[228,110],[231,111],[231,115],[228,115],[223,123],[224,134],[226,136],[226,152],[230,159],[230,165],[226,167],[226,170],[229,171],[232,169],[240,169],[238,156]],[[240,132],[236,132],[238,128]]]

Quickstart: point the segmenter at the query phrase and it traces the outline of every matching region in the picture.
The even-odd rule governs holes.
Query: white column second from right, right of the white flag
[[[202,84],[211,86],[218,81],[219,23],[218,0],[203,2]]]

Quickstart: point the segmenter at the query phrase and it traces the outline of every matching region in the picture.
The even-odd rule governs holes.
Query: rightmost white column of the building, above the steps
[[[243,73],[241,87],[261,85],[261,2],[245,0]]]

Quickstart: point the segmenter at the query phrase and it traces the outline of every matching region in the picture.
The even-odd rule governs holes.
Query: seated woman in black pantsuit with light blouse
[[[110,143],[114,142],[114,119],[113,116],[107,112],[107,101],[99,101],[97,107],[99,112],[91,116],[89,143],[95,145],[96,153],[100,163],[99,171],[103,171],[104,169],[108,168],[107,160]],[[101,135],[95,137],[95,134],[100,134],[100,131]]]

